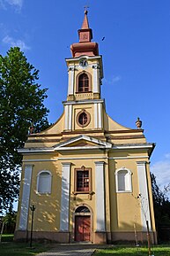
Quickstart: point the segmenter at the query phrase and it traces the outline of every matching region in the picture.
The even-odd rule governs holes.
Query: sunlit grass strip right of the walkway
[[[146,247],[125,247],[115,246],[110,249],[97,250],[95,256],[148,256]],[[152,255],[154,256],[170,256],[170,245],[152,247]]]

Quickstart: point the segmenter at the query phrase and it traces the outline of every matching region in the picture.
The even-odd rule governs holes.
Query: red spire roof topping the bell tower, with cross
[[[85,10],[85,18],[82,27],[78,29],[79,43],[70,45],[73,57],[81,55],[96,56],[99,55],[98,43],[92,43],[92,29],[89,27],[87,11]]]

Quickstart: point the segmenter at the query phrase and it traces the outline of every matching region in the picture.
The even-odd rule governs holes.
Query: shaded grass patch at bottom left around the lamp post
[[[50,244],[33,244],[33,248],[29,244],[22,243],[2,243],[0,244],[1,256],[31,256],[39,252],[46,252],[51,249]]]

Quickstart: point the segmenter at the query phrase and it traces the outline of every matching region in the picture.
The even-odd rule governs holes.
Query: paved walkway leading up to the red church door
[[[41,252],[37,256],[91,256],[97,248],[107,248],[99,244],[57,244],[48,252]]]

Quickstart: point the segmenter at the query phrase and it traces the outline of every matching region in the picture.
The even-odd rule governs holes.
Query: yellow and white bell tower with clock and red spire
[[[78,38],[78,43],[70,45],[72,58],[66,58],[69,79],[67,101],[63,102],[64,131],[102,130],[102,57],[99,55],[98,43],[92,42],[87,11],[82,27],[78,29]]]

